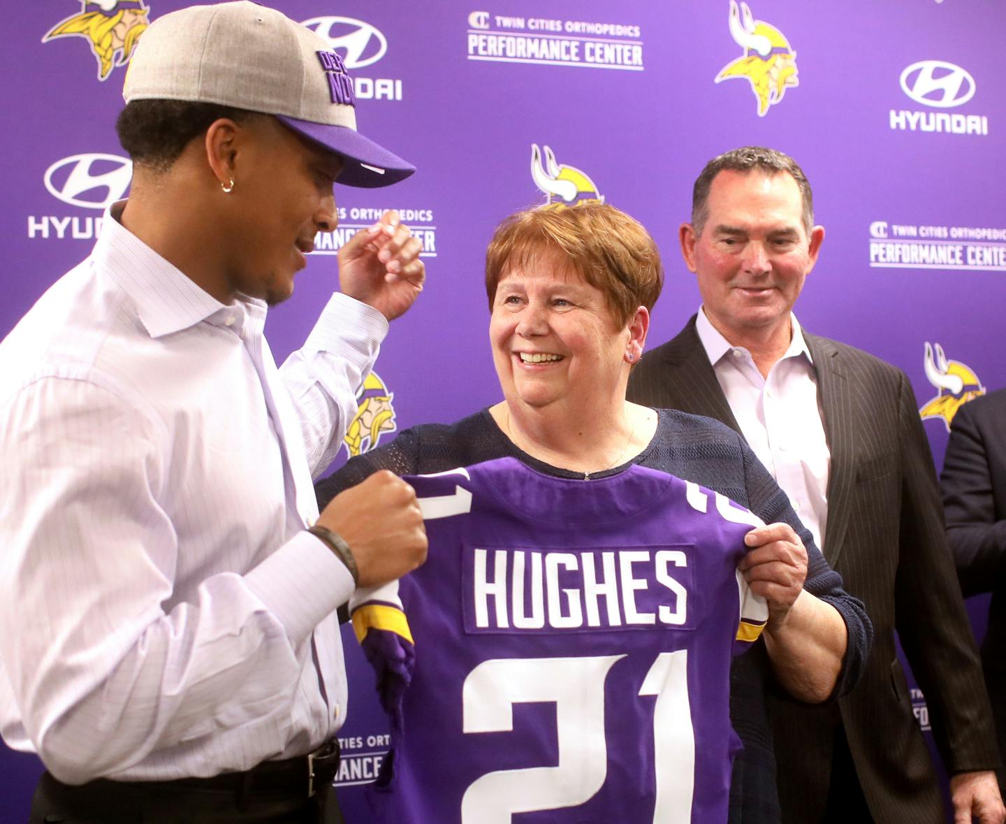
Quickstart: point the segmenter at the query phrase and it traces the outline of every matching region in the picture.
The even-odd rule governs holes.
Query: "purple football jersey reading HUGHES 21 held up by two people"
[[[725,821],[730,659],[768,617],[736,571],[758,517],[637,466],[406,480],[427,562],[351,605],[391,716],[375,820]]]

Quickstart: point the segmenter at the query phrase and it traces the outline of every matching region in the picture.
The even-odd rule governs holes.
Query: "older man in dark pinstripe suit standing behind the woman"
[[[680,228],[702,307],[643,359],[629,396],[740,433],[873,621],[851,694],[774,702],[784,820],[945,822],[896,630],[952,775],[956,821],[999,824],[989,701],[911,386],[893,366],[803,332],[792,313],[823,240],[792,158],[746,147],[710,161]]]

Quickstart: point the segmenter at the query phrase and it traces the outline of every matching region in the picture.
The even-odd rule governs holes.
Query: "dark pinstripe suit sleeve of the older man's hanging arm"
[[[926,694],[948,772],[999,766],[978,649],[947,546],[929,441],[908,379],[898,387],[901,469],[894,623]]]

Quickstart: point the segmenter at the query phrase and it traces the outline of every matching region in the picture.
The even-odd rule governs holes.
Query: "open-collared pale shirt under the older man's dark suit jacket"
[[[824,546],[831,451],[810,350],[795,315],[790,347],[763,377],[750,352],[731,346],[699,310],[695,331],[744,439]]]

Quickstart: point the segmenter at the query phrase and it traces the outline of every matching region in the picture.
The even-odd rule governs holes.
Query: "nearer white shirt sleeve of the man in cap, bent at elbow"
[[[310,634],[353,589],[300,532],[166,611],[178,539],[158,494],[172,446],[85,380],[36,380],[0,406],[0,660],[27,735],[67,783],[234,727],[282,750]],[[195,550],[210,570],[227,555]]]

